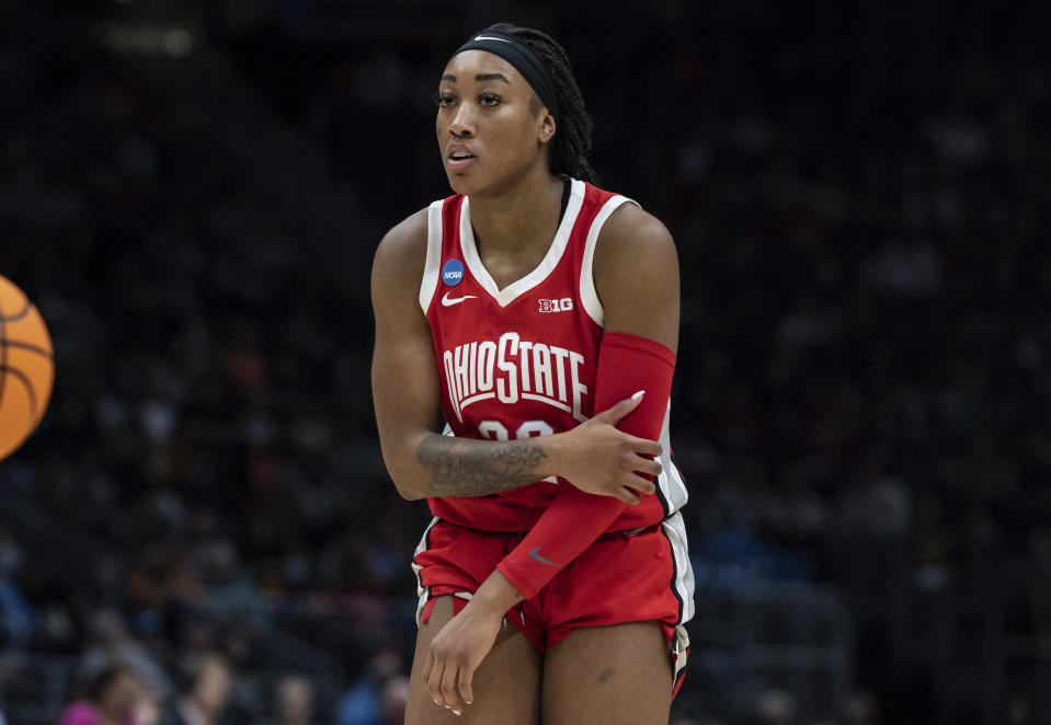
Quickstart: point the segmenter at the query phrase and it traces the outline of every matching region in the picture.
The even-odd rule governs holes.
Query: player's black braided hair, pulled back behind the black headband
[[[546,33],[530,27],[518,27],[512,23],[496,23],[482,31],[483,34],[485,32],[506,33],[528,45],[555,79],[561,112],[556,119],[555,138],[548,148],[548,166],[551,173],[597,184],[598,174],[587,163],[587,153],[591,151],[591,115],[584,106],[576,79],[573,78],[566,48]],[[536,102],[539,104],[539,100]],[[540,107],[537,105],[537,111]]]

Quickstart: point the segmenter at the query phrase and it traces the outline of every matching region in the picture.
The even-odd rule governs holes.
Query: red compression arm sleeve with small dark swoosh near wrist
[[[644,390],[642,402],[617,428],[656,440],[667,411],[674,369],[675,355],[660,343],[636,335],[606,333],[598,347],[595,411],[605,411]],[[526,538],[496,568],[528,599],[590,546],[620,516],[625,506],[619,498],[586,494],[572,484],[562,483]]]

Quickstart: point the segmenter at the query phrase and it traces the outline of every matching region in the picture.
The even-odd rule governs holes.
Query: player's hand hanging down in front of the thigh
[[[460,714],[475,701],[475,670],[493,648],[503,614],[493,615],[467,602],[431,641],[423,665],[423,681],[431,698]]]

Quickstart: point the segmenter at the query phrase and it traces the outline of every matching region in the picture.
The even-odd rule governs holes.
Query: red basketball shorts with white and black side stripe
[[[444,595],[455,597],[458,613],[524,536],[466,529],[435,517],[412,560],[418,622],[427,620],[434,600]],[[674,664],[674,697],[689,654],[684,624],[694,613],[693,596],[686,536],[676,513],[646,529],[603,534],[506,619],[541,653],[579,626],[656,620]]]

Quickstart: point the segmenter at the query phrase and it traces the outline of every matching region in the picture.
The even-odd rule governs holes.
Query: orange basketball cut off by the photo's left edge
[[[0,460],[36,428],[55,382],[52,337],[36,306],[0,276]]]

